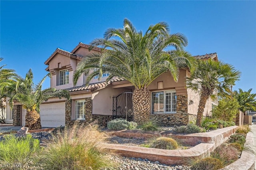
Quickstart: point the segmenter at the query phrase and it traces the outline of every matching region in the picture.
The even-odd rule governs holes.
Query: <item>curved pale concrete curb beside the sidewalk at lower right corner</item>
[[[248,132],[241,158],[221,170],[254,170],[254,152],[252,148],[252,132]]]

